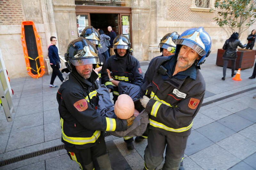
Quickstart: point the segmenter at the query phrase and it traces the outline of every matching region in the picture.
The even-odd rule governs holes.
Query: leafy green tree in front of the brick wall
[[[215,0],[211,10],[214,9],[217,11],[214,20],[229,36],[233,32],[240,36],[256,21],[255,0]]]

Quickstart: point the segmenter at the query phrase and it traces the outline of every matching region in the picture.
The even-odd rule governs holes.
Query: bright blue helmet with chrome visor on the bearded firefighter
[[[211,53],[212,40],[203,27],[190,28],[184,31],[178,38],[175,51],[176,56],[179,54],[182,45],[192,48],[202,56],[200,60],[195,62],[196,66],[200,66],[204,63],[205,57]]]

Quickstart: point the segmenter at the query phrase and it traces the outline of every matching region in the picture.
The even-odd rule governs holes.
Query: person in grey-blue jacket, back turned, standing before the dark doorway
[[[98,48],[98,51],[100,54],[104,55],[107,61],[109,57],[108,47],[110,46],[110,43],[109,43],[110,37],[104,34],[104,31],[102,29],[99,30],[99,33],[100,33],[100,45],[102,46],[102,48]]]

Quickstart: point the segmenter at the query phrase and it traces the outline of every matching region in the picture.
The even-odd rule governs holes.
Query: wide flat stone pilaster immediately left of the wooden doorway
[[[69,42],[77,38],[76,5],[74,0],[52,1],[59,52],[64,56]]]

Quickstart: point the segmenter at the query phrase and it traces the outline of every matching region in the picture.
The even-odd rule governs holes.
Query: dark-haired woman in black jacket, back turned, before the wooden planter
[[[237,46],[241,47],[241,48],[245,48],[246,44],[242,44],[240,42],[240,40],[238,40],[238,33],[234,32],[232,33],[232,35],[229,37],[228,40],[225,41],[224,45],[223,45],[223,49],[225,49],[225,52],[222,56],[223,61],[223,77],[221,78],[221,80],[225,80],[226,78],[226,70],[228,67],[228,60],[231,61],[231,77],[233,77],[234,75],[236,75],[235,73],[235,66],[236,66],[236,48]]]

